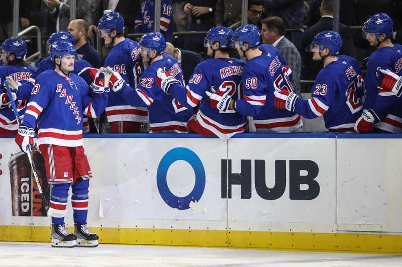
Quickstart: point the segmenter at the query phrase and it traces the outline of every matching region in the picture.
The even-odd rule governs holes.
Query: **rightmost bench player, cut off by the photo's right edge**
[[[402,45],[392,44],[392,28],[393,22],[385,13],[369,17],[363,26],[363,38],[377,51],[367,62],[364,112],[355,125],[362,133],[402,133],[402,99],[377,88],[383,76],[378,70],[402,74]]]

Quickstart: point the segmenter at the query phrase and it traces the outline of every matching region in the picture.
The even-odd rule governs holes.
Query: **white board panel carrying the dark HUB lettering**
[[[336,223],[335,138],[235,138],[229,159],[229,224]]]

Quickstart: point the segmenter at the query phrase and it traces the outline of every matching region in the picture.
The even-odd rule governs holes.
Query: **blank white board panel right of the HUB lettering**
[[[338,229],[401,232],[402,140],[337,139]]]

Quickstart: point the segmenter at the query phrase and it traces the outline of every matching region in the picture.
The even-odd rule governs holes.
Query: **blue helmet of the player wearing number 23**
[[[317,34],[313,42],[310,45],[310,51],[315,52],[314,47],[318,46],[319,51],[322,52],[324,48],[328,48],[330,51],[330,55],[335,56],[339,54],[339,50],[342,46],[342,38],[341,35],[334,31],[324,31]]]

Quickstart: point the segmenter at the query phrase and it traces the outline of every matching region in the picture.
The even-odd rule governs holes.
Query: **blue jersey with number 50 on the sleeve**
[[[291,70],[272,45],[261,45],[262,55],[243,68],[244,99],[235,102],[236,112],[254,118],[257,132],[293,132],[303,125],[299,115],[274,107],[275,89],[294,92]]]

